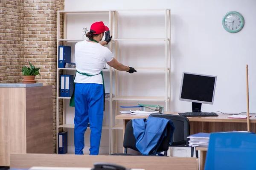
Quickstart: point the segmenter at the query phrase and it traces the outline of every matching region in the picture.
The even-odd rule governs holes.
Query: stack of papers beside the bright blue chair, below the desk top
[[[189,146],[192,147],[208,147],[210,133],[197,133],[188,136]]]

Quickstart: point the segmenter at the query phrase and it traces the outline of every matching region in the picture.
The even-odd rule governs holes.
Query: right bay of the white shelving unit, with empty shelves
[[[165,12],[165,37],[163,38],[119,38],[118,37],[118,11],[163,11]],[[139,17],[139,16],[138,16]],[[110,120],[113,120],[113,116],[115,117],[118,113],[118,106],[117,102],[118,101],[159,101],[159,102],[165,102],[165,111],[169,111],[169,100],[171,96],[170,92],[170,85],[171,85],[171,79],[170,79],[170,68],[171,68],[171,12],[170,9],[149,9],[149,10],[116,10],[115,16],[114,16],[114,28],[115,32],[113,32],[113,42],[115,43],[115,58],[119,61],[120,57],[119,56],[119,47],[118,47],[118,42],[119,41],[164,41],[165,42],[165,67],[163,68],[135,68],[138,72],[163,72],[165,74],[165,96],[119,96],[117,93],[117,88],[118,88],[118,79],[119,76],[116,74],[115,77],[115,89],[114,89],[114,97],[111,97],[110,100]],[[143,32],[142,32],[143,33]],[[152,32],[153,33],[153,32]],[[111,68],[111,71],[115,69]],[[110,72],[110,75],[112,72]],[[110,86],[110,91],[112,92],[112,86]],[[123,89],[125,90],[125,89]],[[169,90],[169,92],[168,92]],[[146,91],[145,91],[146,93]],[[115,111],[113,110],[112,104],[113,102],[116,102],[116,108]],[[117,123],[117,120],[113,122],[110,122],[111,127],[110,127],[110,132],[111,132],[111,153],[118,153],[118,136],[117,132],[115,130],[123,130],[123,125],[119,125]]]

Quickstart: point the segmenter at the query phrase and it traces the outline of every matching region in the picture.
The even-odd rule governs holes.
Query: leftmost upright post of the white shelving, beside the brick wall
[[[58,101],[58,96],[59,96],[59,71],[58,71],[58,46],[59,46],[59,29],[60,29],[60,12],[57,11],[57,76],[56,76],[56,81],[57,81],[57,87],[56,87],[56,153],[58,154],[58,125],[59,125],[59,101]]]

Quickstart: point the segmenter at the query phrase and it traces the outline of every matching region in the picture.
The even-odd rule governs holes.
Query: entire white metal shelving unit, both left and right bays
[[[165,12],[165,37],[163,38],[118,38],[118,11],[163,11]],[[76,68],[58,68],[58,46],[60,42],[63,42],[63,45],[66,45],[67,42],[79,42],[83,40],[76,40],[76,39],[67,39],[67,16],[66,14],[81,14],[81,13],[108,13],[109,14],[109,28],[110,28],[110,35],[113,36],[111,43],[109,43],[109,49],[113,52],[114,48],[114,57],[119,61],[120,56],[118,55],[118,42],[120,41],[164,41],[165,42],[165,66],[163,68],[136,68],[137,71],[140,71],[141,73],[145,72],[163,72],[165,74],[165,96],[118,96],[117,93],[117,88],[118,88],[118,71],[112,67],[109,69],[103,70],[107,71],[110,75],[110,97],[109,99],[106,99],[109,101],[109,126],[103,126],[102,129],[108,129],[109,130],[109,153],[117,153],[117,131],[115,130],[122,130],[123,125],[118,125],[117,121],[115,120],[113,122],[113,118],[118,113],[118,108],[117,108],[117,102],[118,101],[160,101],[160,102],[165,102],[165,111],[169,111],[169,100],[171,96],[171,92],[168,92],[168,89],[170,90],[170,84],[171,84],[171,79],[170,79],[170,67],[171,67],[171,21],[170,21],[170,9],[149,9],[149,10],[144,10],[144,9],[137,9],[137,10],[108,10],[108,11],[58,11],[58,25],[57,25],[57,92],[56,92],[56,97],[57,97],[57,103],[56,103],[56,140],[57,140],[57,153],[58,153],[58,132],[60,128],[74,128],[73,124],[66,124],[65,122],[65,101],[66,99],[70,99],[70,97],[60,97],[59,96],[59,76],[60,76],[60,71],[63,71],[65,74],[66,71],[68,70],[76,70]],[[64,14],[64,27],[63,27],[63,39],[60,39],[60,14]],[[113,85],[112,81],[115,80],[115,83]],[[114,86],[114,89],[113,89]],[[146,93],[146,92],[145,92]],[[113,97],[112,94],[115,96]],[[63,125],[59,125],[59,101],[63,100]],[[116,104],[116,108],[113,109],[113,102]],[[106,105],[107,103],[105,103]],[[88,126],[88,128],[90,128]]]

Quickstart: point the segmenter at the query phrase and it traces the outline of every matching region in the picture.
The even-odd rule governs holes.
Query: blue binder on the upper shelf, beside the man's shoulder
[[[71,62],[71,47],[70,46],[59,46],[58,53],[58,68],[65,68],[67,62]]]

